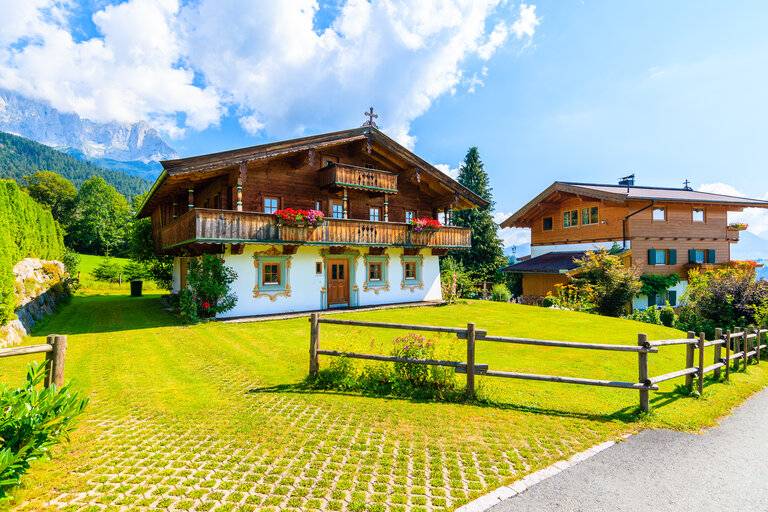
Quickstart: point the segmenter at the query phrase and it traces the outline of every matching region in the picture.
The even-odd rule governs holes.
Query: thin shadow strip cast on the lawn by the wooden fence
[[[601,423],[619,421],[622,423],[635,423],[640,419],[639,408],[637,406],[627,406],[618,409],[608,414],[592,414],[585,412],[569,411],[565,409],[556,409],[551,407],[536,407],[532,405],[524,405],[510,402],[497,402],[489,400],[466,400],[466,401],[438,401],[429,399],[419,399],[411,397],[403,397],[396,395],[380,395],[376,393],[360,393],[355,391],[340,391],[333,389],[317,389],[307,385],[305,382],[299,382],[294,384],[277,384],[274,386],[264,386],[258,388],[251,388],[246,391],[248,394],[260,394],[260,393],[295,393],[302,395],[334,395],[334,396],[348,396],[357,398],[372,398],[379,400],[398,400],[410,403],[429,404],[450,404],[465,407],[479,407],[483,409],[496,409],[500,411],[517,411],[527,414],[537,414],[544,416],[553,416],[559,418],[571,418],[582,419],[589,421],[597,421]]]

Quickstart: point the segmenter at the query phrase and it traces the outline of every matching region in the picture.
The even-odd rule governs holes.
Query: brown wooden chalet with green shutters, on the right
[[[544,296],[588,250],[618,248],[641,274],[677,273],[665,296],[638,297],[637,308],[675,304],[691,267],[731,260],[741,226],[728,213],[768,208],[768,201],[698,192],[689,187],[641,187],[633,177],[618,185],[555,182],[501,223],[530,228],[531,258],[505,270],[523,275],[523,294]]]

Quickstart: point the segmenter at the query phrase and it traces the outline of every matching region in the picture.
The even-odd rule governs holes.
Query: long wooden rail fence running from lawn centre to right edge
[[[707,341],[704,333],[697,337],[695,333],[689,332],[687,338],[648,341],[645,334],[638,334],[637,346],[634,345],[615,345],[604,343],[581,343],[574,341],[554,341],[538,340],[531,338],[515,338],[508,336],[490,336],[484,330],[477,329],[474,323],[468,323],[466,327],[440,327],[432,325],[409,325],[393,324],[383,322],[364,322],[358,320],[340,320],[335,318],[323,318],[319,313],[312,313],[310,322],[310,341],[309,341],[309,374],[316,376],[320,370],[319,356],[348,357],[350,359],[367,359],[371,361],[387,361],[394,363],[411,363],[435,366],[448,366],[455,369],[457,373],[467,375],[466,392],[468,396],[475,395],[475,376],[483,375],[485,377],[502,377],[507,379],[536,380],[542,382],[558,382],[563,384],[582,384],[587,386],[601,386],[619,389],[637,390],[640,395],[640,410],[647,412],[650,410],[649,392],[658,391],[659,383],[674,378],[685,377],[686,386],[693,389],[693,380],[696,379],[697,390],[699,393],[704,388],[704,375],[710,372],[715,373],[716,378],[720,378],[724,372],[725,379],[730,377],[732,364],[733,369],[738,369],[740,365],[744,368],[749,364],[749,359],[760,362],[760,356],[764,349],[768,349],[768,340],[766,333],[768,329],[740,328],[734,332],[727,331],[723,333],[717,329],[715,339]],[[379,354],[361,354],[357,352],[342,352],[338,350],[323,350],[320,348],[320,324],[347,325],[354,327],[371,327],[379,329],[400,329],[407,331],[422,332],[443,332],[455,334],[459,339],[466,340],[467,360],[466,361],[445,361],[439,359],[412,359],[396,356],[385,356]],[[568,377],[561,375],[544,375],[535,373],[518,373],[502,370],[491,370],[487,364],[477,364],[475,362],[475,346],[477,341],[509,343],[515,345],[533,345],[539,347],[559,347],[579,350],[603,350],[611,352],[634,352],[637,354],[637,382],[602,380],[581,377]],[[685,345],[685,367],[673,372],[665,373],[651,377],[649,374],[648,354],[659,352],[664,347],[674,345]],[[712,364],[706,365],[704,361],[704,349],[714,347],[714,360]],[[725,357],[723,356],[725,350]],[[698,358],[696,358],[698,354]],[[696,361],[695,361],[696,360]]]

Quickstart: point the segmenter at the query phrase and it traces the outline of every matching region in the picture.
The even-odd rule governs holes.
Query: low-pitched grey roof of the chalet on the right
[[[518,223],[530,213],[538,204],[557,193],[573,194],[582,197],[602,199],[615,202],[626,201],[658,201],[664,203],[695,203],[718,204],[733,208],[768,208],[768,201],[749,199],[746,197],[729,196],[725,194],[713,194],[699,192],[683,188],[667,187],[638,187],[625,185],[605,185],[598,183],[576,183],[568,181],[556,181],[543,192],[534,197],[517,212],[510,215],[501,227],[523,227]]]

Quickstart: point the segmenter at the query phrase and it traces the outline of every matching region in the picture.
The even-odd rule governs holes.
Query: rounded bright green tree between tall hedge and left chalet
[[[104,178],[89,178],[77,193],[67,245],[78,252],[122,256],[131,220],[125,197]]]

